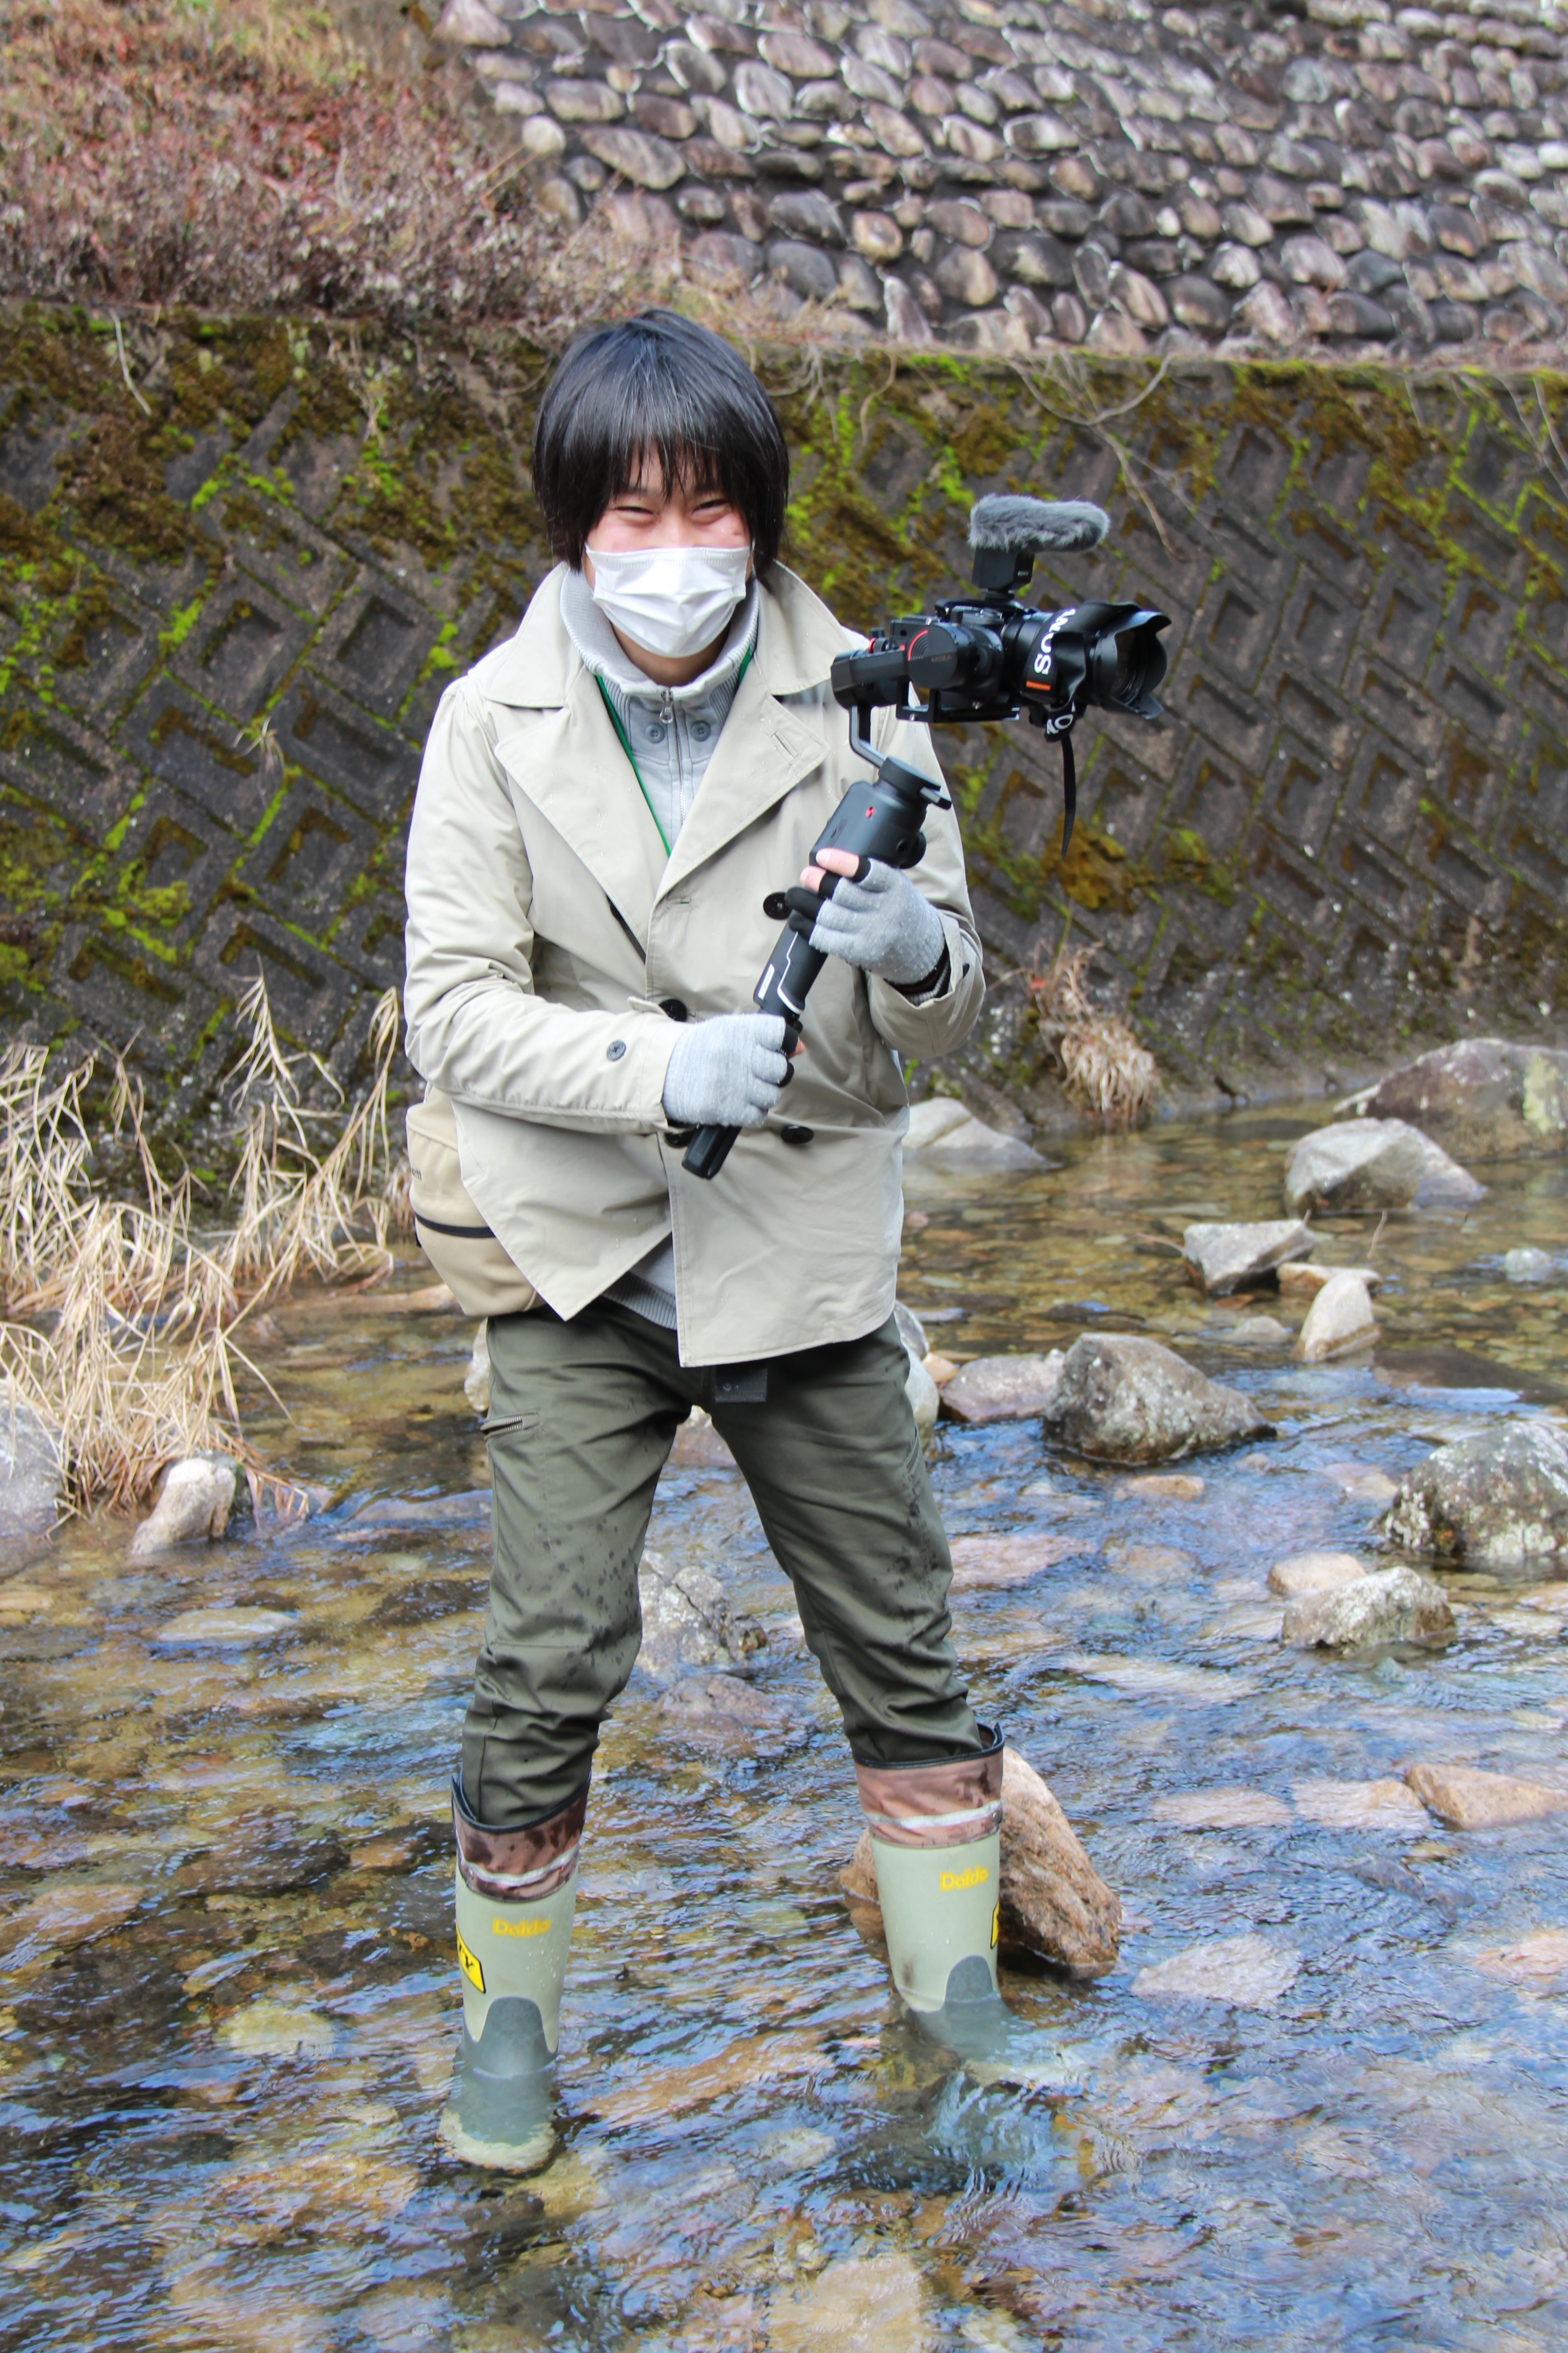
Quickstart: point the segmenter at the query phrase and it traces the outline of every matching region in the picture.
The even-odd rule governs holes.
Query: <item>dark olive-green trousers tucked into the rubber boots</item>
[[[463,1725],[470,1812],[512,1828],[588,1779],[642,1619],[637,1562],[658,1473],[693,1405],[712,1412],[795,1584],[806,1642],[863,1765],[976,1755],[947,1640],[952,1560],[889,1318],[769,1362],[764,1405],[715,1405],[675,1332],[595,1301],[571,1322],[489,1327],[494,1567]]]

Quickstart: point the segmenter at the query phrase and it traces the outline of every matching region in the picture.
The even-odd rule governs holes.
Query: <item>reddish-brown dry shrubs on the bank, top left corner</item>
[[[548,224],[301,0],[0,0],[0,292],[548,325]]]

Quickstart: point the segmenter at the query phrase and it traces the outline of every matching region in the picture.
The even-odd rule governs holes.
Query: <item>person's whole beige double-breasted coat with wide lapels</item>
[[[552,572],[517,635],[447,689],[409,833],[409,1056],[454,1099],[461,1176],[538,1294],[576,1315],[670,1231],[684,1365],[858,1339],[893,1306],[900,1064],[950,1052],[985,995],[952,812],[926,816],[914,882],[952,979],[910,1005],[830,958],[804,1054],[766,1127],[689,1176],[661,1108],[679,1028],[743,1012],[788,889],[865,776],[827,666],[856,640],[795,574],[762,591],[741,680],[675,852],[559,619]],[[924,727],[879,748],[940,774]],[[780,1129],[809,1127],[809,1144]]]

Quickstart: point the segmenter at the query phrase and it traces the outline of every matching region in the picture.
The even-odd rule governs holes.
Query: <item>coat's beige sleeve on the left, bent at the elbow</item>
[[[679,1031],[656,1012],[534,995],[534,878],[480,699],[447,687],[414,798],[407,864],[409,1059],[423,1080],[545,1127],[668,1127]]]

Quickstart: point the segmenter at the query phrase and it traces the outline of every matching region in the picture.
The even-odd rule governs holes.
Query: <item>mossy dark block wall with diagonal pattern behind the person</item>
[[[524,466],[545,362],[503,334],[2,325],[5,1031],[127,1052],[195,1127],[261,969],[348,1080],[402,976],[423,729],[545,569]],[[764,372],[797,454],[792,558],[844,619],[964,581],[987,487],[1112,513],[1041,602],[1173,614],[1166,725],[1079,732],[1065,861],[1058,753],[1027,727],[943,739],[999,979],[945,1082],[1048,1118],[1001,974],[1067,925],[1187,1092],[1469,1024],[1561,1031],[1561,384],[884,353]]]

